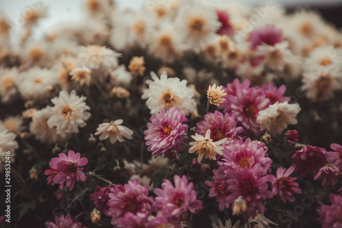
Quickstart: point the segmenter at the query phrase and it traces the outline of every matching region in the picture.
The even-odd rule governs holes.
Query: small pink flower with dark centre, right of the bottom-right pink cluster
[[[287,201],[293,202],[295,201],[295,197],[293,197],[293,193],[300,194],[302,190],[298,188],[298,183],[295,182],[297,177],[289,177],[295,168],[291,166],[286,170],[286,168],[279,167],[277,169],[276,177],[273,175],[269,176],[269,181],[272,182],[272,192],[273,194],[279,194],[282,203],[286,203]]]

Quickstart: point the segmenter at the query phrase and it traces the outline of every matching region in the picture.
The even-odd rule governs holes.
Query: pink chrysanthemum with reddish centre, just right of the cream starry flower
[[[222,162],[218,162],[224,169],[241,169],[253,168],[257,164],[261,167],[261,175],[265,175],[271,171],[272,159],[267,155],[265,144],[259,144],[258,141],[247,138],[245,142],[242,140],[229,144],[223,150]]]

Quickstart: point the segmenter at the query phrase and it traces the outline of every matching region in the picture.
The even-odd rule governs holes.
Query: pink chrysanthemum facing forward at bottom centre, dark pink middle
[[[181,216],[186,212],[196,213],[203,208],[202,201],[196,199],[197,192],[194,183],[187,183],[187,177],[174,175],[174,186],[171,181],[164,179],[161,188],[153,190],[157,197],[153,206],[161,211],[170,223],[181,227]]]

